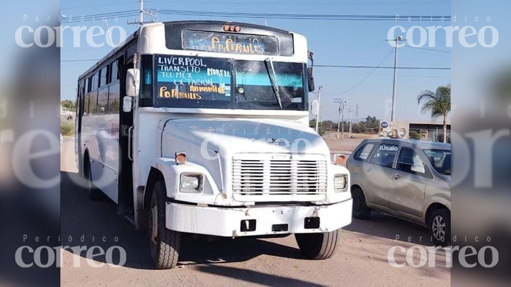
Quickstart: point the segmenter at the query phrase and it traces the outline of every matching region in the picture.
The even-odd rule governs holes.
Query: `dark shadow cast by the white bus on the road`
[[[87,198],[83,181],[76,173],[60,172],[61,176],[61,245],[68,247],[99,246],[105,254],[94,256],[99,262],[118,264],[120,246],[126,252],[124,267],[153,269],[145,235],[125,218],[117,214],[117,206],[110,200],[91,201]],[[246,261],[259,255],[304,259],[297,248],[255,238],[215,237],[184,234],[178,265],[215,264]],[[107,252],[111,249],[111,252]],[[68,251],[72,251],[66,248]],[[75,251],[82,257],[87,250]],[[94,253],[98,253],[96,250]],[[107,255],[111,256],[107,260]],[[221,269],[210,269],[221,270]]]

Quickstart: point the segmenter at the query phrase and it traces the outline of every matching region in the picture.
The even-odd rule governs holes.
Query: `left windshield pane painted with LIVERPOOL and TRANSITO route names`
[[[160,99],[222,101],[230,99],[232,71],[222,59],[158,56],[156,73]]]

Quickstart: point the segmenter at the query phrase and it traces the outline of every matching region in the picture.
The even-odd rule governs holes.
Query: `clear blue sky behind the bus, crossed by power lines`
[[[293,13],[293,14],[342,14],[342,15],[451,15],[451,2],[448,0],[180,0],[160,1],[146,0],[148,9],[175,9],[194,11],[227,11],[250,13]],[[138,9],[138,1],[129,0],[88,0],[61,1],[61,13],[67,17],[79,18],[108,12]],[[132,20],[135,17],[131,18]],[[233,20],[264,25],[264,19],[199,17],[188,15],[158,15],[156,21],[171,20]],[[109,25],[122,26],[128,34],[137,28],[126,25],[126,18],[118,22],[109,20]],[[428,27],[450,26],[449,21],[346,21],[346,20],[303,20],[303,19],[267,19],[268,26],[289,30],[307,37],[309,50],[314,52],[316,64],[365,65],[376,66],[389,54],[391,46],[385,41],[392,26],[400,25],[405,29],[412,26]],[[78,25],[73,23],[72,25]],[[104,27],[102,20],[85,22],[82,25]],[[74,48],[72,34],[64,32],[64,46],[61,60],[99,59],[108,53],[109,46],[93,48],[82,45]],[[84,37],[83,37],[84,38]],[[84,40],[84,39],[82,39]],[[418,42],[418,40],[416,40]],[[450,67],[450,48],[446,47],[445,36],[436,37],[435,51],[403,47],[399,51],[400,66],[415,67]],[[78,77],[94,62],[61,62],[61,99],[74,99]],[[382,66],[393,65],[393,52],[383,61]],[[370,68],[329,68],[317,67],[314,70],[316,87],[323,86],[323,119],[337,119],[337,104],[333,98],[350,101],[349,106],[359,105],[359,118],[375,115],[379,118],[390,117],[392,97],[392,69],[378,69],[365,81]],[[423,90],[434,90],[439,85],[450,84],[450,70],[400,70],[398,73],[398,119],[429,119],[420,113],[416,95]],[[357,85],[360,83],[359,85]],[[357,85],[357,86],[356,86]],[[353,88],[356,86],[355,88]],[[352,89],[353,88],[353,89]],[[350,90],[349,90],[350,89]],[[316,89],[317,90],[317,89]],[[344,94],[343,91],[349,90]],[[315,98],[311,94],[310,98]]]

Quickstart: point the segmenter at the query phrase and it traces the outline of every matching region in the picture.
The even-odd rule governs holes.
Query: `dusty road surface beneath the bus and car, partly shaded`
[[[152,270],[145,237],[117,215],[109,200],[87,200],[76,174],[74,143],[65,139],[61,147],[61,243],[68,246],[100,246],[104,250],[118,245],[127,253],[123,267],[104,265],[93,268],[85,253],[63,251],[61,286],[109,285],[337,285],[337,286],[450,286],[450,270],[445,256],[437,254],[436,267],[393,268],[388,250],[400,245],[430,244],[426,229],[382,214],[367,221],[355,220],[342,234],[336,255],[328,260],[305,259],[293,236],[277,239],[184,237],[177,268]],[[399,234],[400,241],[395,237]],[[69,236],[71,242],[69,243]],[[81,242],[83,236],[84,242]],[[93,237],[94,236],[94,239]],[[118,242],[114,238],[118,237]],[[411,237],[408,242],[408,236]],[[423,241],[420,241],[422,236]],[[103,242],[103,237],[106,242]],[[94,241],[93,241],[94,240]],[[97,252],[98,250],[96,250]],[[419,251],[413,253],[420,262]],[[114,252],[113,260],[119,256]],[[397,254],[398,263],[405,262]],[[94,263],[106,261],[95,257]],[[74,267],[74,266],[80,267]]]

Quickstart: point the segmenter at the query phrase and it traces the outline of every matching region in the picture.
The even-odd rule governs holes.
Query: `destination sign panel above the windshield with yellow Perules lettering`
[[[183,49],[227,54],[278,55],[278,40],[274,36],[184,30]]]

